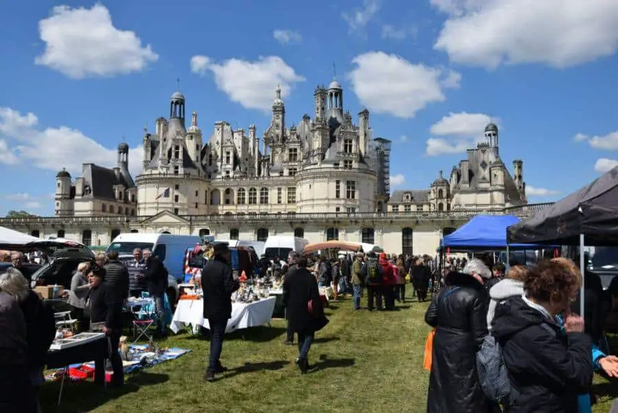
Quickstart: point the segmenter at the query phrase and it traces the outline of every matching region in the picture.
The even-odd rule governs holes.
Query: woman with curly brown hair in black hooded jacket
[[[568,311],[582,285],[575,271],[540,263],[528,271],[525,295],[496,305],[492,335],[514,389],[509,413],[577,413],[577,395],[592,386],[591,339],[582,317]],[[563,311],[564,329],[554,319]]]

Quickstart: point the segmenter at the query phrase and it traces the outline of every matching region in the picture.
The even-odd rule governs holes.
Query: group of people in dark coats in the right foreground
[[[600,286],[595,274],[584,276],[586,292]],[[474,258],[447,271],[425,315],[435,328],[427,412],[591,412],[593,371],[618,377],[618,358],[598,346],[599,300],[577,315],[581,287],[582,274],[567,258],[514,265],[506,274],[503,265],[490,269]],[[500,399],[484,391],[486,366],[478,365],[488,335],[507,372],[509,392]]]

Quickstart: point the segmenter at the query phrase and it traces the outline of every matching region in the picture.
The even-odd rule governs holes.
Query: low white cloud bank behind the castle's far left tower
[[[0,107],[0,137],[14,146],[11,153],[15,154],[16,162],[27,161],[34,168],[58,172],[64,167],[72,175],[79,175],[82,162],[107,167],[117,162],[116,148],[106,148],[67,126],[43,129],[38,126],[34,113],[22,115],[14,109]],[[135,174],[141,170],[143,151],[133,148],[129,157],[129,168]]]

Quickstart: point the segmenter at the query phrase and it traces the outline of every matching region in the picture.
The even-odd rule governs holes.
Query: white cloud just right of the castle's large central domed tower
[[[348,74],[352,89],[361,104],[375,113],[413,118],[428,104],[446,100],[443,89],[459,87],[459,82],[453,82],[453,71],[445,74],[395,54],[367,52],[352,63],[356,65]]]

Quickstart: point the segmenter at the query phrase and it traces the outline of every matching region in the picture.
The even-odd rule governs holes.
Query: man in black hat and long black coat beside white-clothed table
[[[219,358],[227,320],[231,318],[231,295],[240,287],[240,282],[232,276],[229,244],[216,242],[211,246],[214,258],[205,263],[202,269],[204,318],[208,320],[210,327],[210,358],[204,376],[206,381],[214,381],[215,373],[227,371]]]

